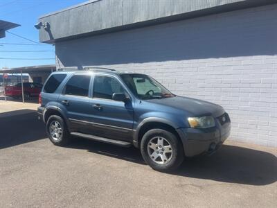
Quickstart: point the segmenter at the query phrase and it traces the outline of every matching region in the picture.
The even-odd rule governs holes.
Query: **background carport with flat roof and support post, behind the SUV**
[[[24,103],[24,87],[23,87],[23,73],[28,73],[32,80],[39,80],[40,83],[44,83],[49,74],[56,70],[55,64],[39,65],[32,67],[18,67],[11,69],[0,69],[0,73],[20,73],[21,74],[21,91],[22,102]],[[5,93],[6,96],[6,93]]]

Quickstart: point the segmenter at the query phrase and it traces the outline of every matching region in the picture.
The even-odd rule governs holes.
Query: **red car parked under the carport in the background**
[[[24,98],[28,99],[31,96],[39,96],[42,91],[42,84],[39,83],[23,83],[24,87]],[[11,96],[12,98],[19,98],[22,96],[21,83],[15,86],[6,86],[6,96]]]

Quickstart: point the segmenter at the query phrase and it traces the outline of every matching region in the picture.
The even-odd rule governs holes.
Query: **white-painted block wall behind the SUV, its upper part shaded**
[[[277,147],[277,5],[57,42],[61,67],[148,73],[222,105],[230,139]]]

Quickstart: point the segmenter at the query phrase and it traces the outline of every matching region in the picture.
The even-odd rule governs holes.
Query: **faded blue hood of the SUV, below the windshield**
[[[220,105],[207,101],[188,98],[183,96],[175,96],[172,98],[147,100],[148,103],[163,105],[163,107],[172,107],[186,112],[189,116],[205,116],[212,115],[215,118],[224,114],[224,109]]]

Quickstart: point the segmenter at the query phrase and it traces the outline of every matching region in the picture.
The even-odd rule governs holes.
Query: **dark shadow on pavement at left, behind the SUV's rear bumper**
[[[44,123],[35,110],[0,113],[0,149],[46,138]]]

